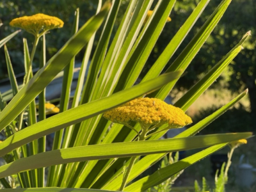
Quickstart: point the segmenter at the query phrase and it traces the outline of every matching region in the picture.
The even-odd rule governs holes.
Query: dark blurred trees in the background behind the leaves
[[[180,49],[176,51],[173,55],[171,64],[176,56],[180,53],[184,47],[189,43],[191,38],[200,29],[205,20],[213,12],[214,8],[220,3],[221,0],[210,1],[202,17],[198,19],[193,29],[191,29],[189,35],[186,37],[184,42],[180,45]],[[177,0],[175,8],[171,13],[172,22],[168,22],[163,29],[163,33],[160,36],[152,54],[148,58],[147,66],[141,72],[141,76],[147,72],[148,68],[154,63],[156,58],[161,54],[164,47],[172,39],[177,30],[182,26],[185,19],[188,18],[196,4],[199,0]],[[157,1],[155,2],[155,4]],[[120,8],[120,17],[124,13],[127,5],[127,0],[122,1],[122,6]],[[97,1],[86,1],[86,0],[49,0],[49,1],[32,1],[32,0],[3,0],[0,2],[0,19],[3,22],[3,26],[0,28],[0,36],[9,35],[17,28],[12,28],[9,26],[10,20],[16,17],[22,17],[24,15],[33,15],[35,13],[45,13],[47,15],[52,15],[62,19],[65,24],[61,30],[52,30],[51,36],[47,37],[47,54],[48,58],[60,49],[60,47],[68,40],[70,37],[70,31],[72,29],[72,20],[74,19],[74,12],[76,8],[80,9],[80,24],[83,24],[92,15],[95,14],[97,8]],[[152,9],[154,5],[152,6]],[[246,1],[246,0],[233,0],[228,7],[227,12],[224,14],[220,23],[214,29],[212,35],[205,42],[204,47],[200,50],[198,55],[193,60],[193,63],[187,68],[186,74],[178,81],[176,88],[178,90],[187,90],[193,86],[193,84],[204,76],[204,72],[212,68],[218,61],[221,60],[222,56],[227,54],[230,47],[233,47],[238,40],[246,33],[246,31],[252,30],[252,38],[246,41],[244,44],[244,49],[241,54],[239,54],[232,65],[228,67],[226,72],[221,75],[221,77],[214,83],[211,88],[228,89],[232,93],[239,93],[245,88],[249,89],[249,101],[250,101],[250,113],[243,113],[243,107],[239,108],[241,114],[248,116],[250,114],[250,119],[246,122],[247,127],[250,131],[253,131],[255,125],[252,123],[253,118],[256,115],[256,84],[255,84],[255,36],[256,29],[256,1]],[[116,24],[114,29],[117,29],[118,24]],[[10,57],[12,59],[13,66],[15,68],[15,73],[24,71],[23,61],[19,58],[22,57],[22,52],[17,50],[22,50],[23,44],[20,40],[20,36],[26,36],[28,38],[29,46],[32,46],[33,36],[28,33],[21,31],[20,34],[15,36],[10,42],[8,42],[8,50],[10,52]],[[99,36],[97,36],[99,39]],[[4,50],[0,49],[0,79],[6,77],[6,64],[4,57]],[[35,56],[35,62],[33,65],[38,65],[39,56]],[[82,58],[77,56],[77,60],[82,60]],[[211,111],[211,109],[209,109]],[[237,109],[238,110],[238,109]],[[206,110],[207,111],[207,110]],[[238,112],[237,112],[238,113]],[[207,115],[200,114],[201,117]],[[201,118],[202,119],[202,118]],[[247,118],[246,118],[247,119]],[[223,116],[223,120],[232,120],[232,115]],[[234,122],[232,120],[232,122]],[[236,124],[236,122],[234,123]],[[224,125],[224,124],[223,124]],[[238,124],[237,124],[238,125]],[[227,125],[228,126],[228,125]],[[248,130],[248,131],[249,131]],[[227,131],[227,130],[226,130]],[[236,130],[233,130],[236,131]],[[245,130],[243,130],[245,131]]]

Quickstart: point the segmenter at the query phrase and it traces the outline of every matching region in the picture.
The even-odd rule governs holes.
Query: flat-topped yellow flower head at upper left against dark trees
[[[64,22],[57,17],[42,13],[19,17],[10,22],[10,26],[22,28],[35,36],[40,36],[51,29],[62,28],[63,24]]]

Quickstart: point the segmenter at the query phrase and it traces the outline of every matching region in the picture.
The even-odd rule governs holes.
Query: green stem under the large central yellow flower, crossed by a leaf
[[[138,141],[144,141],[146,139],[146,134],[147,134],[148,127],[146,127],[143,124],[140,124],[140,125],[141,125],[141,133],[138,134]],[[129,125],[129,127],[131,128],[130,125]],[[132,127],[132,130],[136,131],[133,127]],[[138,131],[136,131],[136,132],[138,132]],[[125,185],[127,183],[127,179],[128,179],[128,177],[131,173],[132,166],[134,165],[136,158],[137,158],[137,156],[131,157],[131,162],[130,162],[128,168],[127,168],[127,171],[124,173],[124,178],[122,180],[120,191],[123,191],[124,188],[125,188]]]

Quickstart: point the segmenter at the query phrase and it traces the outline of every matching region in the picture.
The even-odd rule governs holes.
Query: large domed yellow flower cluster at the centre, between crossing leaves
[[[120,124],[129,124],[131,121],[145,125],[168,123],[171,128],[184,127],[192,123],[191,118],[182,109],[155,98],[131,100],[123,106],[107,111],[104,117]]]

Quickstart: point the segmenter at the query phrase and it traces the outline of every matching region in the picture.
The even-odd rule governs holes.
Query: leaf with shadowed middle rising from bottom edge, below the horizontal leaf
[[[162,182],[164,182],[164,180],[172,177],[172,175],[174,175],[175,173],[178,173],[181,170],[184,170],[188,166],[191,166],[191,164],[194,164],[197,161],[200,161],[200,159],[204,159],[205,157],[209,156],[213,152],[216,152],[217,150],[220,150],[221,148],[225,147],[227,144],[228,143],[214,145],[192,156],[186,157],[178,161],[177,163],[173,163],[173,164],[170,164],[169,166],[161,168],[160,170],[157,170],[152,175],[143,177],[142,179],[131,184],[130,186],[127,186],[127,188],[125,188],[124,191],[139,192],[139,191],[144,191],[153,186],[156,186],[157,184],[161,184]],[[161,177],[159,177],[159,175],[161,175]]]

